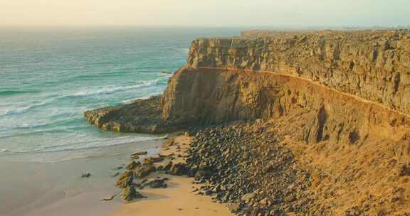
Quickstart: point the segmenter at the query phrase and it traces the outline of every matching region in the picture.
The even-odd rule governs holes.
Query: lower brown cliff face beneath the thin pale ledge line
[[[303,115],[300,125],[288,130],[307,143],[357,144],[391,134],[401,139],[410,126],[406,114],[275,72],[185,68],[169,82],[163,107],[163,119],[174,124]]]

